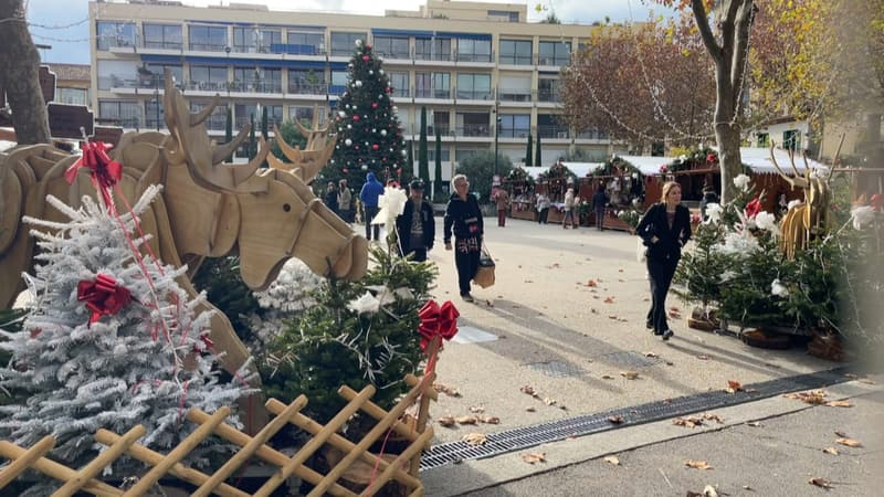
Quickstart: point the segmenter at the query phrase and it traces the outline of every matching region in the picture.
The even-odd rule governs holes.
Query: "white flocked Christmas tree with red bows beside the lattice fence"
[[[140,214],[157,193],[149,188],[133,211]],[[240,377],[219,381],[210,314],[197,313],[200,299],[175,282],[185,268],[136,260],[131,246],[145,240],[130,213],[116,218],[90,198],[80,210],[48,201],[71,221],[27,220],[38,226],[32,235],[41,247],[28,278],[36,300],[21,332],[0,331],[0,348],[12,353],[0,388],[13,396],[0,405],[0,438],[27,447],[51,434],[52,455],[76,467],[96,454],[92,437],[101,427],[124,433],[141,424],[139,443],[168,448],[194,429],[188,409],[234,406],[248,387]],[[96,281],[115,282],[131,302],[90,324],[93,311],[77,287]]]

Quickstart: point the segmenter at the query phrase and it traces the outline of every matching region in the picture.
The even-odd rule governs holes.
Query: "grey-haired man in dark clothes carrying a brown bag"
[[[478,257],[482,254],[482,236],[485,225],[478,201],[470,194],[470,182],[464,175],[451,179],[454,193],[445,208],[444,233],[442,240],[445,250],[452,250],[451,235],[454,233],[454,265],[457,268],[457,285],[461,298],[473,302],[470,295],[470,282],[478,271]]]

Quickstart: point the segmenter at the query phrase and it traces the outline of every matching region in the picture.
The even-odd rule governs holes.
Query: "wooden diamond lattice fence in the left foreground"
[[[254,436],[249,436],[224,423],[224,419],[230,414],[229,408],[221,408],[213,414],[192,409],[187,413],[187,420],[198,424],[199,427],[165,455],[137,443],[145,434],[141,425],[135,426],[123,435],[107,430],[98,430],[95,433],[95,441],[105,445],[107,450],[80,469],[71,469],[45,457],[55,445],[52,436],[42,438],[30,448],[0,441],[0,456],[10,459],[9,464],[0,470],[0,490],[30,468],[63,482],[62,487],[53,496],[72,496],[77,491],[96,496],[140,496],[147,494],[160,482],[160,478],[178,479],[197,486],[198,488],[191,494],[193,496],[269,496],[293,475],[314,485],[309,496],[320,496],[326,493],[334,496],[356,496],[357,494],[341,486],[338,480],[355,463],[361,462],[376,468],[376,472],[372,472],[369,486],[360,495],[375,495],[386,483],[394,480],[401,488],[407,489],[409,496],[421,496],[423,495],[423,485],[418,479],[418,470],[421,453],[429,447],[433,438],[433,430],[427,426],[427,420],[429,402],[436,399],[436,392],[432,389],[434,379],[435,373],[432,371],[427,372],[420,379],[408,376],[406,381],[411,390],[389,412],[370,401],[375,394],[373,387],[366,387],[360,392],[346,385],[341,387],[338,389],[338,393],[348,403],[326,425],[319,424],[299,412],[307,404],[304,395],[287,405],[271,399],[265,405],[267,411],[275,414],[275,417]],[[415,403],[419,405],[417,417],[411,417],[412,422],[408,424],[403,423],[402,419],[409,419],[408,416],[403,417],[406,410]],[[354,443],[343,437],[339,431],[347,420],[358,411],[377,420],[377,424],[362,440]],[[292,456],[267,445],[267,441],[290,423],[313,435]],[[392,461],[389,461],[390,455],[382,456],[370,452],[371,445],[385,437],[388,432],[396,433],[399,437],[408,441],[408,446]],[[211,475],[181,464],[181,461],[191,451],[211,435],[217,435],[239,446],[240,450]],[[326,444],[343,453],[344,457],[337,464],[332,465],[327,474],[323,475],[306,466],[305,463]],[[145,463],[149,469],[136,478],[130,478],[135,480],[135,484],[127,489],[116,488],[97,479],[105,467],[124,455]],[[276,467],[261,488],[249,494],[224,483],[252,459],[260,459],[264,464]]]

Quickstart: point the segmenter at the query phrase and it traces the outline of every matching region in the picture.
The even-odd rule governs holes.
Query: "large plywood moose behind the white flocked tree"
[[[314,162],[303,158],[292,170],[259,169],[269,150],[262,140],[260,152],[249,163],[223,162],[245,139],[249,125],[231,142],[217,145],[203,125],[217,102],[191,114],[189,103],[171,83],[167,74],[165,107],[170,133],[128,133],[113,150],[113,158],[123,163],[119,191],[129,201],[149,184],[164,187],[141,220],[162,262],[180,266],[183,261],[228,255],[235,247],[242,279],[254,289],[270,285],[291,257],[304,261],[317,274],[362,277],[368,242],[326,209],[304,176],[296,173],[316,169],[319,158],[314,157]],[[324,130],[314,133],[313,144],[325,139]],[[77,158],[48,145],[0,154],[0,308],[12,305],[24,288],[22,272],[33,267],[34,242],[21,218],[63,222],[63,215],[48,207],[48,193],[66,199],[74,208],[80,207],[82,195],[95,195],[87,168],[81,169],[73,184],[64,179],[64,171]],[[117,205],[125,204],[118,201]],[[192,276],[196,267],[189,271]],[[178,283],[196,297],[189,276]],[[206,304],[200,310],[206,308],[213,309]],[[236,371],[249,359],[221,313],[212,319],[211,339],[217,351],[224,352],[228,371]]]

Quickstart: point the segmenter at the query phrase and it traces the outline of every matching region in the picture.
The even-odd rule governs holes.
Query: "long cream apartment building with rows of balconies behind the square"
[[[131,0],[92,2],[90,18],[92,105],[104,124],[161,129],[166,70],[194,112],[220,95],[207,121],[219,139],[227,108],[236,128],[257,118],[259,106],[275,123],[311,119],[316,105],[325,118],[364,40],[383,60],[407,139],[417,140],[427,107],[445,178],[456,160],[495,145],[520,162],[528,135],[540,137],[544,163],[569,147],[599,159],[611,152],[604,133],[578,135],[559,120],[560,70],[603,28],[528,23],[524,4],[428,0],[381,17]]]

